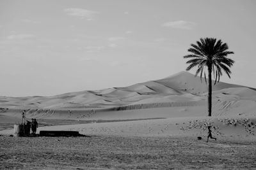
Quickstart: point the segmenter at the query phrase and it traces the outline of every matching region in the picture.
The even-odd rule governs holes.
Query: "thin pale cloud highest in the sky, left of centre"
[[[64,11],[67,13],[67,15],[87,18],[87,20],[93,20],[95,15],[99,14],[98,11],[85,10],[81,8],[67,8]]]

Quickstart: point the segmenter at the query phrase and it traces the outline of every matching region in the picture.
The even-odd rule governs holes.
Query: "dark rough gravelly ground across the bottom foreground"
[[[0,136],[0,169],[256,169],[256,142]]]

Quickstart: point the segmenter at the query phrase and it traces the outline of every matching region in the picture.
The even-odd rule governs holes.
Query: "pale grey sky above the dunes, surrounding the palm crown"
[[[256,1],[0,0],[0,96],[126,87],[184,71],[191,43],[228,44],[256,88]],[[189,71],[195,73],[195,70]]]

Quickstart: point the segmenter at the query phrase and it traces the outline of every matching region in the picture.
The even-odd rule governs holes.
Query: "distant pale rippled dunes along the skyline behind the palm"
[[[240,88],[239,90],[237,88]],[[228,83],[213,86],[215,96],[236,95],[239,97],[256,96],[254,89]],[[138,104],[164,103],[205,100],[207,85],[199,77],[182,71],[168,78],[138,83],[129,87],[115,87],[95,91],[70,92],[50,97],[0,97],[0,106],[6,108],[68,108],[80,106],[108,107]]]

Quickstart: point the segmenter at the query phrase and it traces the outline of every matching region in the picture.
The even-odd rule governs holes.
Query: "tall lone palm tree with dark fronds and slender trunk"
[[[234,52],[228,51],[227,43],[223,43],[221,39],[218,41],[216,38],[200,38],[200,41],[196,41],[196,45],[191,44],[191,48],[188,49],[191,52],[189,55],[185,55],[184,59],[189,59],[186,64],[190,64],[186,71],[197,66],[196,74],[200,73],[202,81],[202,74],[204,73],[205,83],[206,74],[208,73],[208,116],[212,114],[212,73],[214,74],[215,82],[220,81],[222,71],[224,71],[230,78],[230,67],[233,66],[234,60],[228,59],[227,55]],[[207,68],[207,70],[205,70]]]

